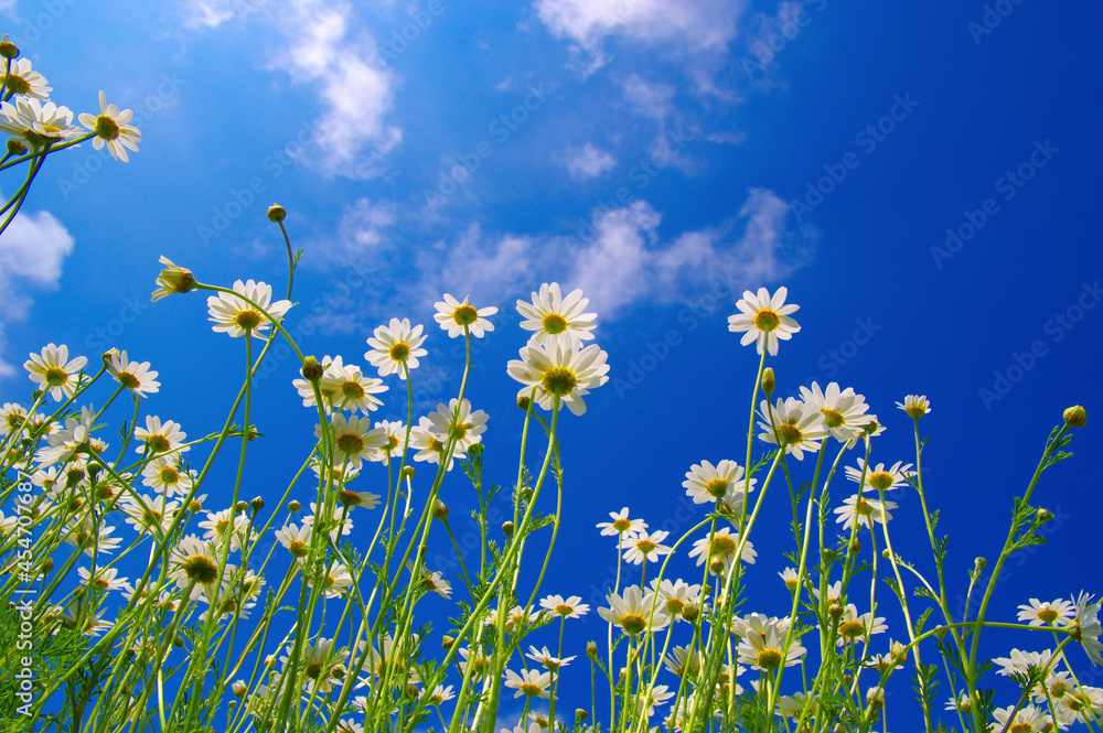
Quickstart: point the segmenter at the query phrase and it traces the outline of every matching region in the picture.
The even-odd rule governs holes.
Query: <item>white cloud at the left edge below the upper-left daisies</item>
[[[49,212],[17,214],[0,235],[0,354],[4,325],[26,317],[31,306],[28,290],[53,290],[62,277],[62,263],[73,251],[73,236]],[[0,357],[0,377],[14,368]]]

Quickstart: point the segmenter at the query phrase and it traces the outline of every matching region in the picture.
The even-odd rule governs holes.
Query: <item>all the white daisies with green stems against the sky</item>
[[[55,105],[7,37],[0,55],[10,136],[0,170],[25,173],[0,211],[2,237],[49,155],[90,141],[126,162],[141,136],[103,93],[98,114]],[[697,514],[685,531],[652,529],[645,508],[609,507],[592,531],[608,538],[617,572],[591,607],[544,584],[563,542],[561,419],[585,420],[588,396],[615,369],[595,343],[599,315],[586,293],[555,282],[517,293],[511,334],[494,332],[496,308],[442,293],[435,324],[381,317],[362,353],[303,354],[290,333],[303,254],[286,212],[267,216],[287,249],[286,283],[208,283],[186,263],[162,257],[158,274],[149,262],[156,308],[206,298],[208,336],[239,345],[240,368],[213,377],[237,390],[232,403],[161,414],[140,344],[79,354],[47,343],[25,360],[26,400],[0,409],[4,731],[1103,730],[1103,690],[1078,678],[1103,664],[1099,589],[989,606],[1008,558],[1046,541],[1052,515],[1036,495],[1069,457],[1082,407],[1054,410],[1037,468],[1007,496],[998,554],[946,567],[940,507],[924,488],[930,401],[885,406],[914,431],[914,453],[885,461],[884,425],[854,388],[775,394],[770,360],[800,337],[799,305],[784,287],[746,291],[729,333],[717,334],[758,355],[757,371],[735,375],[738,394],[724,397],[746,408],[742,439],[728,457],[687,465]],[[414,385],[438,328],[436,343],[461,345],[464,369],[453,397],[417,414]],[[484,479],[488,414],[467,394],[472,344],[492,337],[521,344],[500,365],[520,409],[505,485]],[[295,354],[299,378],[265,387],[297,390],[314,439],[295,456],[297,472],[249,496],[255,388],[277,345]],[[406,419],[375,420],[384,401]],[[229,486],[215,492],[214,475],[232,476]],[[303,481],[311,493],[300,499],[292,488]],[[460,550],[446,485],[478,497],[474,552]],[[495,497],[511,508],[504,519]],[[791,505],[791,525],[759,521],[767,503]],[[904,513],[906,525],[890,524]],[[893,550],[901,526],[925,535],[928,557]],[[779,616],[760,613],[745,582],[768,562],[754,548],[767,532],[792,540],[768,571],[789,594]],[[458,572],[432,567],[440,547],[454,548]],[[683,576],[672,570],[678,557],[692,569]],[[964,615],[946,592],[947,573],[963,571]],[[432,596],[447,600],[443,617],[426,612]],[[891,633],[886,610],[901,619]],[[583,616],[600,618],[598,638],[565,648],[567,626]],[[979,639],[992,628],[1046,650],[985,658]],[[1000,676],[1014,687],[997,694]],[[909,694],[887,696],[890,685]]]

